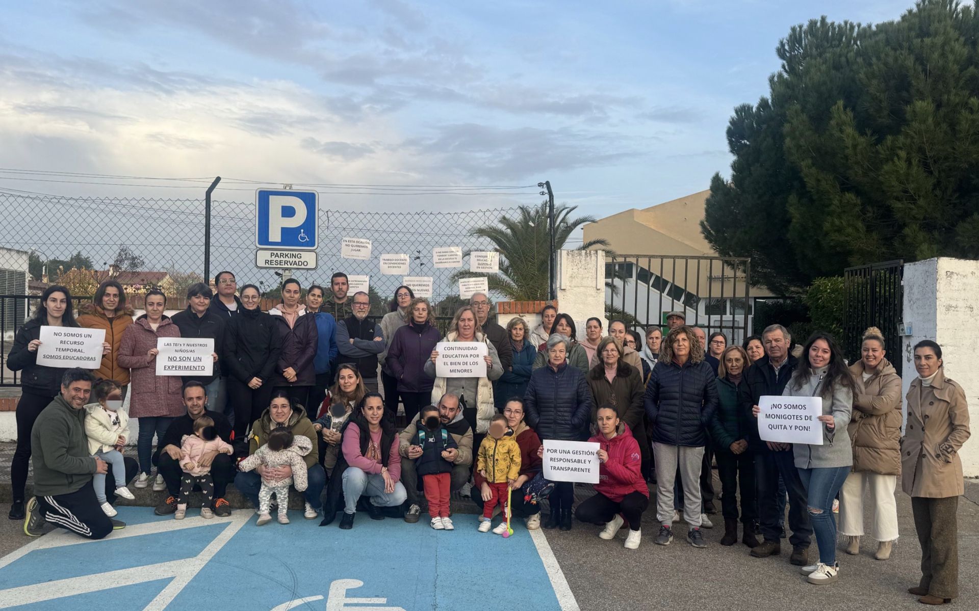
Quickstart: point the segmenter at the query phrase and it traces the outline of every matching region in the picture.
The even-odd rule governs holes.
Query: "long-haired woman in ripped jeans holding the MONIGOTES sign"
[[[782,397],[817,397],[822,409],[822,445],[793,444],[795,465],[809,495],[809,520],[819,547],[819,561],[800,569],[810,584],[823,586],[839,579],[836,562],[836,520],[833,499],[854,462],[847,425],[854,402],[854,379],[833,336],[816,333],[803,349]]]

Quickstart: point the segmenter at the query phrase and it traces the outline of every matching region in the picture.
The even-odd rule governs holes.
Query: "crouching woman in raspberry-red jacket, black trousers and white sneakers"
[[[578,505],[578,520],[605,523],[598,536],[615,539],[623,524],[629,526],[626,549],[639,546],[642,512],[649,506],[649,489],[640,469],[639,444],[629,426],[619,420],[613,405],[603,404],[595,415],[598,434],[589,439],[599,445],[598,483],[595,494]],[[624,519],[625,518],[625,519]]]

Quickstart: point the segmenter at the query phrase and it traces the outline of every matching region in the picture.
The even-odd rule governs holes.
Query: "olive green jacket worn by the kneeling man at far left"
[[[85,410],[74,409],[59,395],[41,411],[30,432],[34,494],[57,496],[81,489],[95,473],[88,453]]]

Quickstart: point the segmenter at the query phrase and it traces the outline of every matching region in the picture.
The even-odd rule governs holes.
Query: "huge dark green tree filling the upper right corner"
[[[707,240],[775,290],[879,260],[979,257],[977,34],[956,0],[792,27],[769,96],[730,119]]]

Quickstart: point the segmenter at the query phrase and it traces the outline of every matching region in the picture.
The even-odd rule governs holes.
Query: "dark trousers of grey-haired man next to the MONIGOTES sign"
[[[809,547],[813,525],[809,522],[806,489],[795,466],[792,450],[762,450],[755,454],[755,480],[758,486],[758,514],[765,541],[778,541],[778,476],[789,494],[789,542],[793,547]]]

